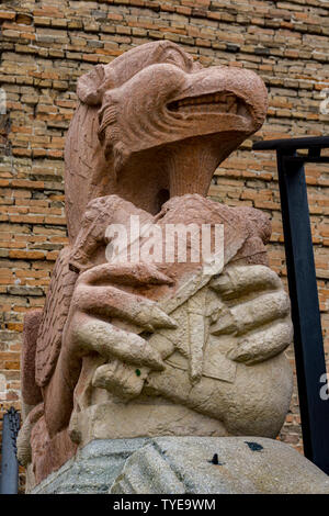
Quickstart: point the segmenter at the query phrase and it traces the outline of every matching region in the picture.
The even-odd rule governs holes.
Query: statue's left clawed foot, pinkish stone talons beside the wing
[[[137,285],[172,282],[152,263],[104,263],[89,269],[76,283],[64,335],[64,341],[71,348],[70,355],[82,357],[92,351],[109,360],[107,364],[97,369],[93,385],[122,399],[139,394],[150,369],[161,371],[164,368],[159,352],[136,334],[138,327],[151,333],[177,327],[175,321],[156,302],[106,284],[109,281],[118,283],[127,277]],[[113,318],[133,324],[136,333],[111,324]],[[140,368],[139,377],[136,368]]]

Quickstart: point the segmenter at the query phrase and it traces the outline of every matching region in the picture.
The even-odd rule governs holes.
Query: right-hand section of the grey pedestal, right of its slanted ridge
[[[112,494],[329,494],[329,476],[283,442],[163,437],[126,461]]]

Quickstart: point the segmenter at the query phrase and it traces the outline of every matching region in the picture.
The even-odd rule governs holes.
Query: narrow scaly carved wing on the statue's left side
[[[54,372],[60,351],[63,329],[78,277],[68,267],[70,253],[70,247],[66,247],[57,258],[38,329],[35,379],[39,386],[45,386]]]

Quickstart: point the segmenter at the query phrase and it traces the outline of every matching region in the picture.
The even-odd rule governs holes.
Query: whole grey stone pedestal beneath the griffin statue
[[[93,440],[32,493],[329,494],[329,476],[260,437]]]

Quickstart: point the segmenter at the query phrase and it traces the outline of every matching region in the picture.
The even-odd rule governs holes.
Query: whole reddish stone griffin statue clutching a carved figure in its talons
[[[203,68],[161,41],[95,66],[78,97],[65,158],[69,245],[44,310],[24,322],[19,455],[30,486],[92,439],[275,437],[293,330],[268,265],[271,225],[205,198],[216,167],[264,121],[262,80]],[[128,227],[132,215],[160,228],[222,224],[223,267],[109,261],[106,227]]]

